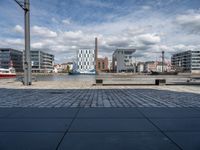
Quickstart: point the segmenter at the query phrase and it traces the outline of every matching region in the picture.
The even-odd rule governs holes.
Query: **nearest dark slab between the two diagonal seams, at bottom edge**
[[[68,133],[59,150],[179,150],[158,132]]]

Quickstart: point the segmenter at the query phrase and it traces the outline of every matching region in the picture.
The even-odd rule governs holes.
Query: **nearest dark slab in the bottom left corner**
[[[1,150],[55,150],[63,133],[0,132]]]

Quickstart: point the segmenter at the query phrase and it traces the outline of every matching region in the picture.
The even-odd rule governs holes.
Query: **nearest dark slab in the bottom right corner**
[[[200,132],[166,132],[183,150],[200,150]]]

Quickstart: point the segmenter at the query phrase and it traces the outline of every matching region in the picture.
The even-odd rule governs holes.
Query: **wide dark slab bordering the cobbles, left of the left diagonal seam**
[[[73,118],[78,108],[21,108],[13,118]]]

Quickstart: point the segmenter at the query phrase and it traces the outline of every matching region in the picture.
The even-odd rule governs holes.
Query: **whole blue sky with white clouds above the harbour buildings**
[[[79,48],[111,59],[116,48],[136,48],[137,61],[167,59],[200,48],[199,0],[30,0],[31,47],[71,61]],[[0,0],[0,47],[22,50],[23,11]]]

